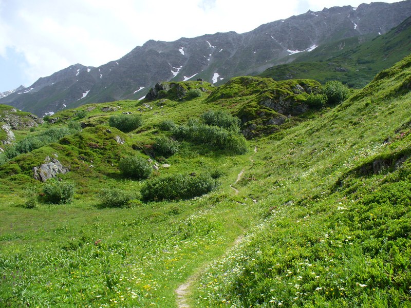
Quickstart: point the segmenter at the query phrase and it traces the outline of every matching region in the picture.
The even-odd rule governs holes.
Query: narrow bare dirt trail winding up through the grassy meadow
[[[257,152],[257,147],[254,147],[254,153]],[[251,163],[254,163],[253,156],[250,156]],[[238,194],[238,189],[234,188],[232,185],[235,185],[239,180],[241,180],[242,175],[244,174],[245,169],[242,169],[237,175],[237,179],[230,187],[234,190],[235,195]],[[256,202],[255,200],[253,200]],[[232,243],[232,246],[238,245],[242,241],[242,235],[237,237]],[[176,289],[175,293],[177,294],[177,307],[178,308],[190,308],[188,304],[188,297],[190,294],[190,288],[192,284],[200,277],[202,268],[199,268],[193,275],[191,275],[184,283],[180,284]]]

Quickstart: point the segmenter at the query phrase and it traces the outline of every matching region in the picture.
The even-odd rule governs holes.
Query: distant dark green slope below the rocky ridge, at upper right
[[[362,88],[379,71],[392,66],[409,53],[411,17],[391,31],[361,43],[358,38],[317,47],[292,63],[274,66],[260,76],[274,80],[310,78],[325,83],[339,80]]]

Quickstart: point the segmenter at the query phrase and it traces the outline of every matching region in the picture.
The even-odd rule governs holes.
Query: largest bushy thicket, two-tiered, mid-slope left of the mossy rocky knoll
[[[173,135],[177,139],[208,144],[235,154],[244,154],[247,151],[247,141],[240,134],[237,118],[222,111],[208,111],[201,115],[201,120],[203,122],[192,118],[187,125],[175,127]]]

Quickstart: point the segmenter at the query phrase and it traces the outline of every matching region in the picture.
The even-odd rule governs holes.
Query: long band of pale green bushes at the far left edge
[[[31,152],[32,150],[38,149],[46,144],[56,142],[64,136],[76,133],[80,130],[81,127],[77,122],[70,122],[68,127],[51,127],[40,132],[39,134],[27,136],[6,149],[4,152],[5,158],[0,159],[0,164],[2,164],[2,162],[5,163],[7,159],[11,159],[23,153]]]

